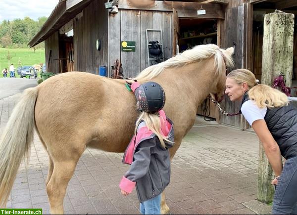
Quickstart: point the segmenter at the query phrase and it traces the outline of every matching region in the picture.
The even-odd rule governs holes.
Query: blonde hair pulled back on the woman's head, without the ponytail
[[[249,88],[255,86],[258,82],[255,75],[247,69],[233,70],[226,78],[234,79],[238,85],[247,83]]]

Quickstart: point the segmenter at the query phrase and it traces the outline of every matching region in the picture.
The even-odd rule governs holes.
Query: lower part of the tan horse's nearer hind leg
[[[66,188],[71,179],[78,160],[67,160],[53,162],[53,172],[47,184],[49,196],[50,213],[63,214],[63,200]]]

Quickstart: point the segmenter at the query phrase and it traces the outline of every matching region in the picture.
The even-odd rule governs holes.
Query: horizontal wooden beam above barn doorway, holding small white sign
[[[197,10],[203,8],[204,15],[198,15]],[[180,1],[152,1],[152,0],[119,0],[119,9],[178,11],[179,18],[225,19],[224,5],[218,3],[202,4]]]

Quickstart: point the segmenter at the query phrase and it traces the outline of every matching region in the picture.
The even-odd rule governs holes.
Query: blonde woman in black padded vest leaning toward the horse
[[[241,112],[263,144],[276,175],[272,214],[297,214],[297,109],[281,91],[258,85],[252,72],[227,75],[225,93],[242,101]],[[281,155],[287,160],[284,168]]]

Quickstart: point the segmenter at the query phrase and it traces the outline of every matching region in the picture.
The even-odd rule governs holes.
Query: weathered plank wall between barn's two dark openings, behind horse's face
[[[221,38],[221,47],[228,48],[235,45],[235,54],[233,55],[235,68],[242,68],[244,65],[244,25],[245,25],[245,8],[243,0],[230,0],[226,7],[224,27],[225,34]],[[229,97],[225,95],[222,107],[228,113],[238,113],[241,102],[231,102]],[[238,116],[222,116],[222,123],[240,127],[240,115]]]

